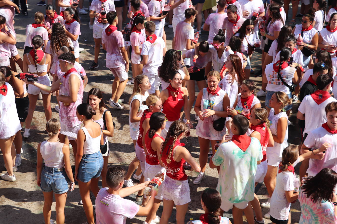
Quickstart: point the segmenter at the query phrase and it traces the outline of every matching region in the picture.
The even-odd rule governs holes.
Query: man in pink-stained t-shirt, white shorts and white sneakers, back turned
[[[103,49],[106,49],[105,63],[110,69],[115,80],[112,84],[112,94],[110,105],[117,109],[123,109],[119,104],[125,85],[127,82],[127,72],[129,71],[129,59],[124,47],[123,34],[117,30],[118,17],[116,12],[106,14],[106,20],[109,26],[102,33]]]

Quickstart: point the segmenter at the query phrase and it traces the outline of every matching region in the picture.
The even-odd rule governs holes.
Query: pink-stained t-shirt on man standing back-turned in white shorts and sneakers
[[[102,32],[102,44],[105,44],[106,57],[105,63],[107,68],[119,68],[125,66],[121,47],[124,47],[123,34],[115,30],[109,36],[105,31]]]

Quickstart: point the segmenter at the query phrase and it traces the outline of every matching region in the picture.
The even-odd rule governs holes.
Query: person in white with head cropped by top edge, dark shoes
[[[101,11],[104,10],[105,13],[116,11],[115,4],[113,0],[93,0],[90,5],[90,18],[95,18],[93,27],[93,37],[95,41],[95,58],[94,62],[91,64],[89,70],[94,70],[98,68],[98,56],[101,45],[102,32],[106,27],[109,26],[108,21],[101,15]]]

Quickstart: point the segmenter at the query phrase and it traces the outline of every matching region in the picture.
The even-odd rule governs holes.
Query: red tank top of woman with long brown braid
[[[181,143],[179,139],[176,140],[176,143],[173,147],[172,154],[171,154],[171,163],[167,164],[166,159],[168,157],[168,153],[170,152],[170,146],[173,143],[173,138],[171,137],[167,143],[165,148],[163,149],[161,161],[163,162],[165,168],[166,168],[166,175],[172,179],[175,180],[187,180],[187,175],[185,174],[185,170],[183,168],[183,164],[185,163],[185,160],[181,158],[181,161],[176,162],[173,159],[174,151],[176,146],[181,146]]]

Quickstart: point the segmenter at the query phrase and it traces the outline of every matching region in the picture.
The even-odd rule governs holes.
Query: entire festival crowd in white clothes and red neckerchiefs
[[[27,15],[26,2],[20,2]],[[289,0],[219,0],[210,14],[204,2],[93,0],[85,8],[83,0],[59,0],[56,6],[40,1],[45,11],[35,12],[27,25],[20,57],[13,20],[20,13],[18,1],[0,1],[0,148],[7,170],[0,177],[16,181],[23,137],[30,137],[42,99],[49,138],[37,146],[36,172],[46,224],[53,222],[53,196],[56,222],[65,223],[67,192],[75,184],[89,224],[122,224],[136,215],[146,216],[143,224],[165,224],[174,206],[176,223],[185,223],[191,201],[185,170],[198,172],[193,180],[198,185],[208,169],[217,169],[217,187],[202,192],[205,214],[189,223],[229,224],[223,213],[232,210],[234,224],[243,223],[243,213],[249,224],[263,224],[264,218],[290,224],[297,199],[299,223],[337,223],[337,1],[328,6],[324,0],[311,5],[302,0],[298,15],[298,1],[292,1],[288,24],[301,18],[294,27],[285,26]],[[130,108],[135,158],[127,172],[108,167],[115,124],[102,91],[92,88],[83,102],[90,80],[80,64],[79,38],[87,31],[81,31],[79,14],[87,10],[95,42],[89,70],[99,68],[102,47],[114,76],[109,104],[123,110],[125,101]],[[124,16],[130,21],[122,30]],[[166,23],[173,29],[172,49],[166,45]],[[209,32],[207,40],[199,40],[201,30]],[[255,74],[263,83],[258,92],[250,79],[256,48],[263,52]],[[126,85],[133,86],[128,101]],[[52,118],[52,96],[59,119]],[[258,97],[265,97],[265,107]],[[299,146],[288,142],[290,113],[297,114]],[[190,135],[192,121],[198,162],[180,142]],[[294,167],[300,162],[298,178]],[[134,185],[131,177],[140,183]],[[258,183],[270,197],[262,204],[254,193]],[[133,193],[142,205],[123,198]],[[270,212],[263,214],[261,207]]]

